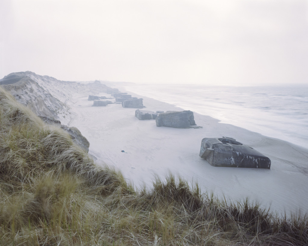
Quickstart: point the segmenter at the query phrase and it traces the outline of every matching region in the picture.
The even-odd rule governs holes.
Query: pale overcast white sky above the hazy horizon
[[[308,84],[308,0],[1,0],[0,78]]]

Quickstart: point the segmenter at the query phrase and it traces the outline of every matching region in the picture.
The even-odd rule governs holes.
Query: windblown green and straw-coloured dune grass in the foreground
[[[0,88],[0,245],[307,245],[306,216],[172,175],[136,190]]]

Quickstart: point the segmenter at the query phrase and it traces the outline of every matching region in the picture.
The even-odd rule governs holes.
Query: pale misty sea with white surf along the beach
[[[308,85],[128,85],[125,89],[308,148]]]

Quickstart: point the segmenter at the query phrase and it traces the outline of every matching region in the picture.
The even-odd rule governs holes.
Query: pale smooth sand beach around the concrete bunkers
[[[183,110],[129,94],[144,98],[145,110]],[[197,182],[202,192],[214,192],[215,196],[233,201],[248,197],[249,201],[260,203],[261,208],[270,206],[278,215],[308,212],[308,149],[197,113],[194,113],[195,121],[202,129],[156,127],[155,120],[138,120],[136,109],[122,108],[121,104],[91,107],[93,101],[87,98],[88,95],[75,98],[71,107],[77,117],[70,125],[76,126],[88,139],[89,153],[97,158],[98,165],[106,163],[120,170],[135,187],[146,184],[151,188],[155,175],[164,180],[170,172],[189,184]],[[222,136],[233,137],[268,156],[271,169],[209,165],[199,157],[201,140]]]

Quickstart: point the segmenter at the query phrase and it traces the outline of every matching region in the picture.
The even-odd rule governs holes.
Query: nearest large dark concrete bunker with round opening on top
[[[230,137],[203,138],[199,156],[215,167],[270,169],[271,165],[268,157]]]

